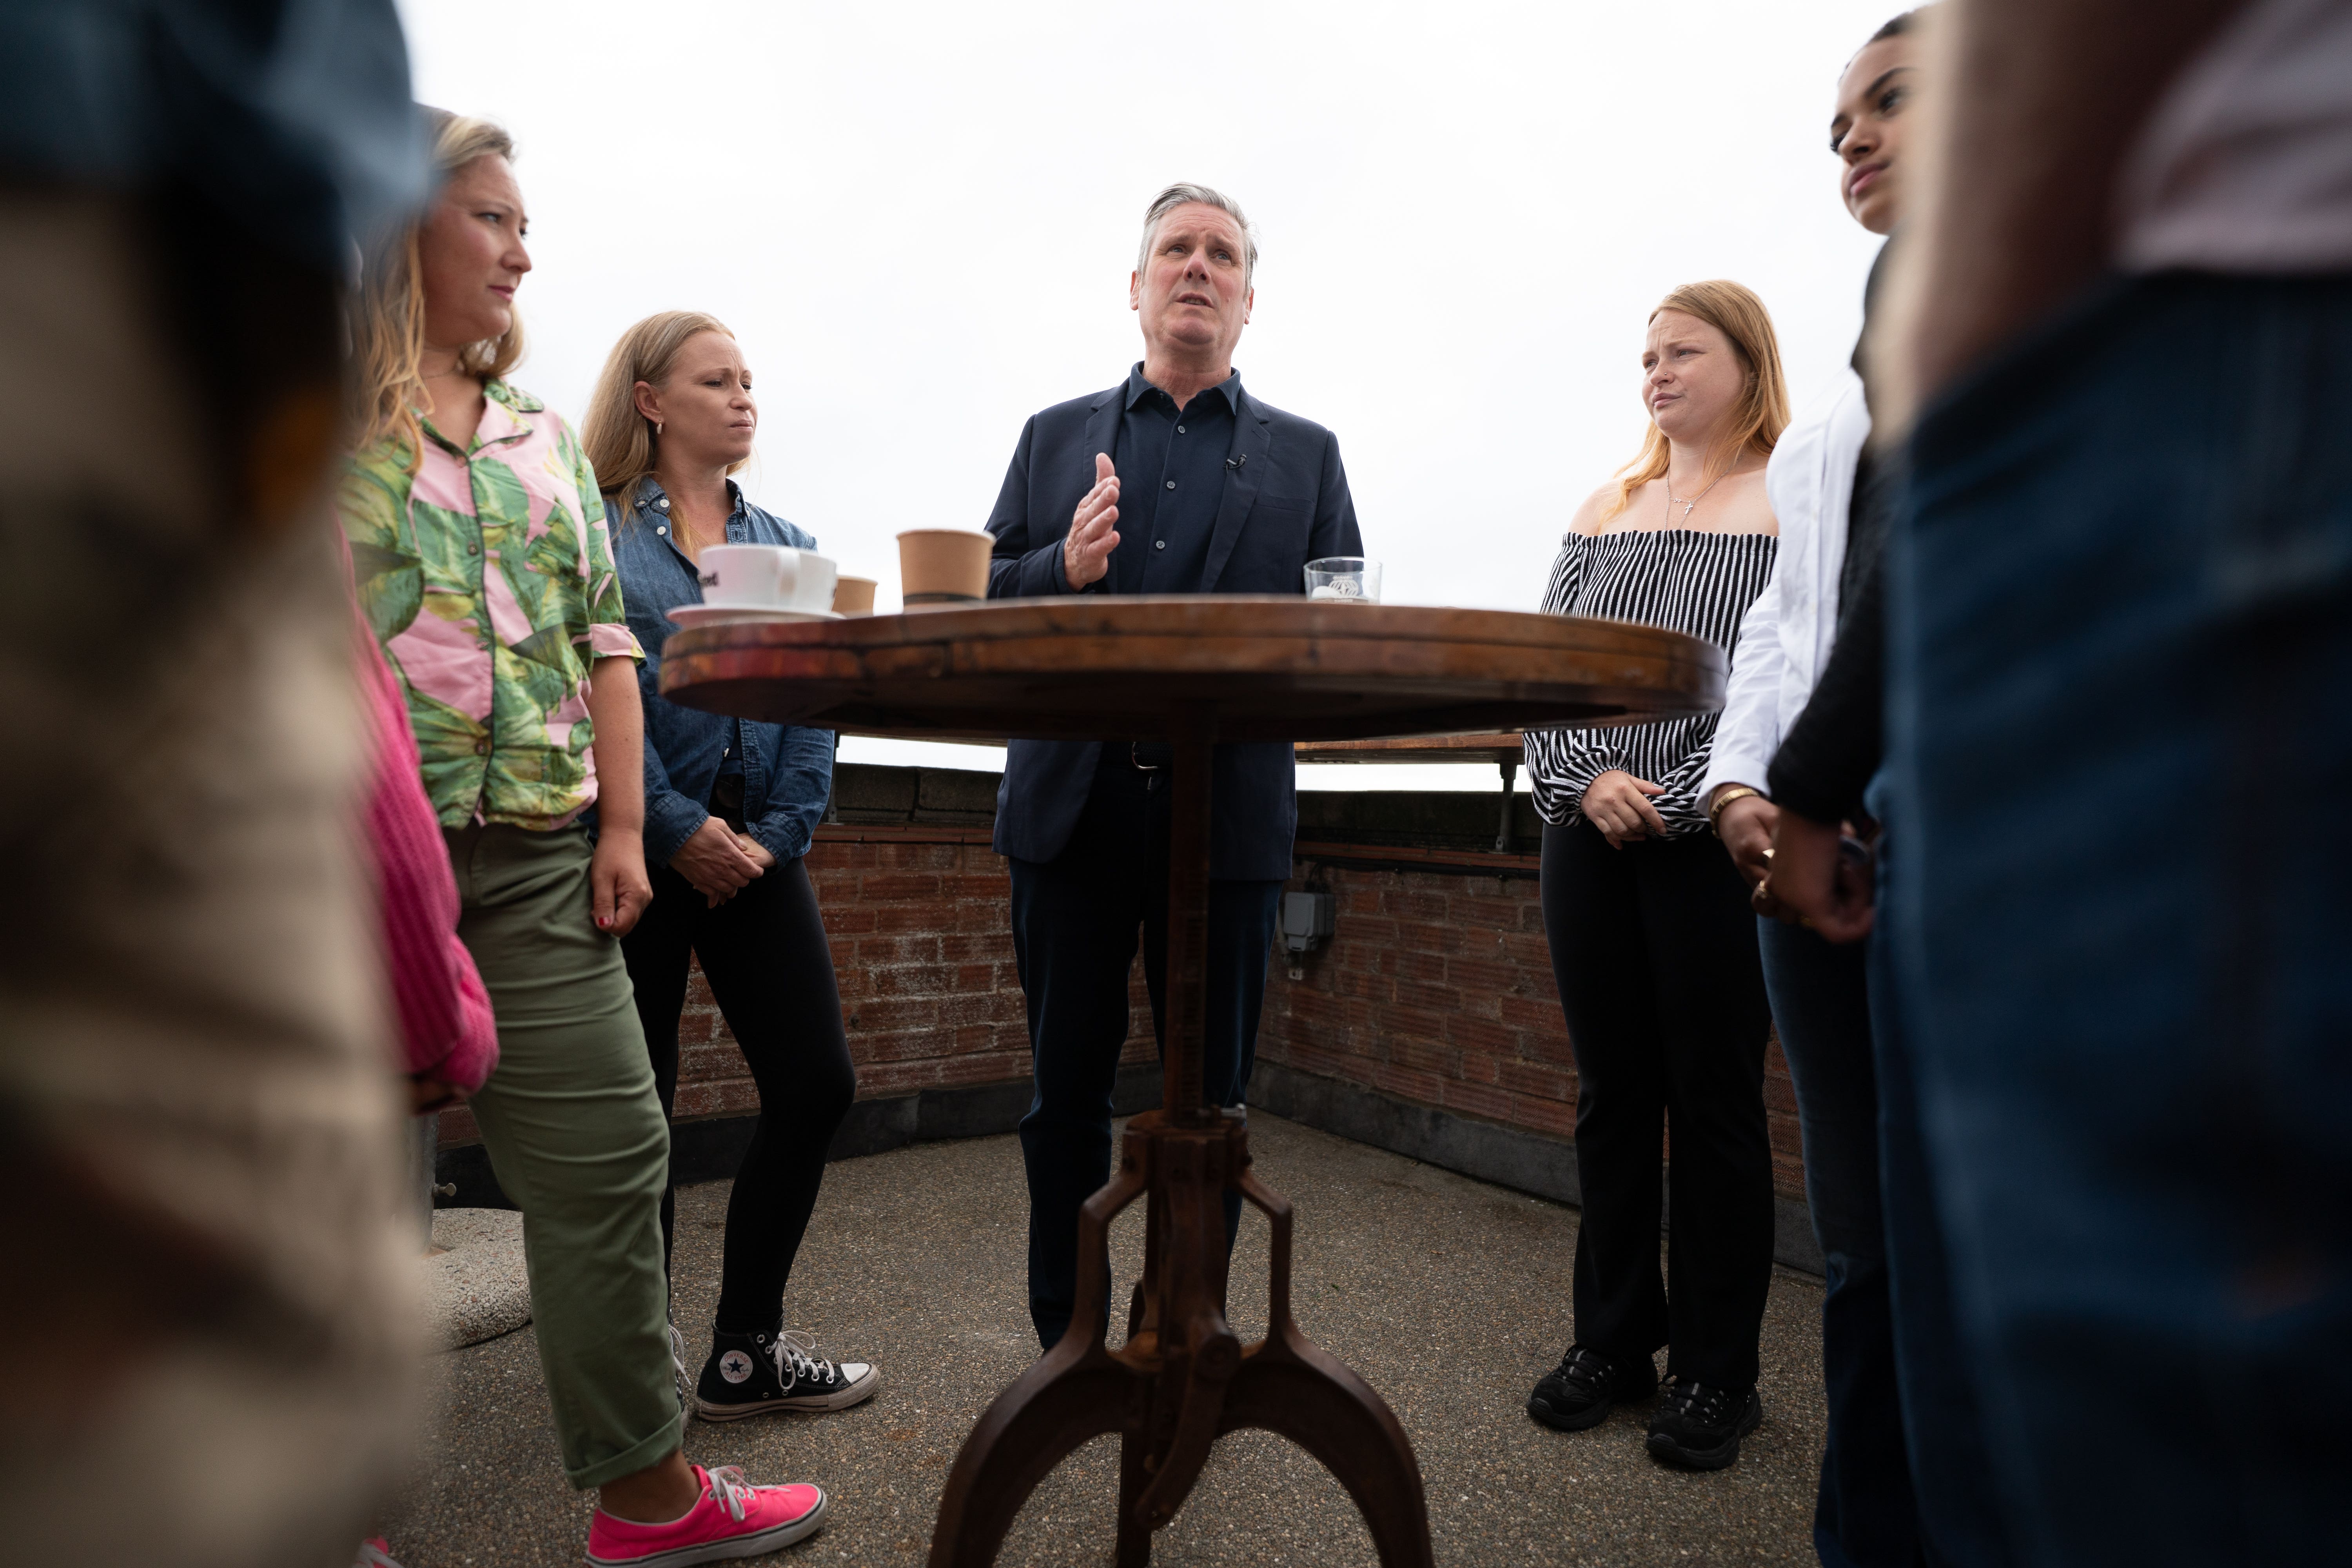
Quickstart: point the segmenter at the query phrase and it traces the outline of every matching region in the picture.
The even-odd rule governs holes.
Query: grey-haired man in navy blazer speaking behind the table
[[[1143,214],[1127,282],[1143,362],[1021,430],[988,597],[1305,592],[1305,564],[1359,555],[1338,442],[1242,390],[1258,244],[1207,186]],[[1124,491],[1124,498],[1122,498]],[[1127,971],[1143,936],[1152,1032],[1167,1025],[1167,745],[1014,741],[995,846],[1011,865],[1014,957],[1037,1093],[1021,1119],[1030,1185],[1030,1321],[1047,1349],[1077,1295],[1077,1211],[1110,1180],[1110,1088],[1127,1044]],[[1275,903],[1298,823],[1287,741],[1218,745],[1211,773],[1209,1006],[1202,1088],[1240,1105],[1258,1046]],[[1225,1241],[1240,1222],[1228,1194]],[[1091,1326],[1089,1326],[1091,1328]]]

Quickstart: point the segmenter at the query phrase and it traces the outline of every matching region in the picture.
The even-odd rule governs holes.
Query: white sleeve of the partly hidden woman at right
[[[1851,369],[1773,447],[1764,496],[1780,522],[1771,581],[1740,621],[1724,717],[1698,799],[1715,785],[1764,788],[1780,736],[1804,712],[1837,639],[1837,576],[1846,564],[1853,465],[1870,440],[1863,378]]]

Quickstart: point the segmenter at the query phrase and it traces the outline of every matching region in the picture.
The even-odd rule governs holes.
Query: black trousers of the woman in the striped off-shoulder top
[[[1545,825],[1543,931],[1576,1048],[1576,1338],[1616,1356],[1665,1345],[1668,1375],[1755,1387],[1771,1004],[1748,886],[1708,832],[1611,849],[1585,820]]]

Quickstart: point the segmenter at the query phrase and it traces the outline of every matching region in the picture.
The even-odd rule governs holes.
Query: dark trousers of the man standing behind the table
[[[1112,750],[1112,748],[1105,748]],[[1122,762],[1094,778],[1070,844],[1011,860],[1014,959],[1037,1088],[1021,1119],[1030,1187],[1030,1321],[1051,1349],[1077,1305],[1077,1211],[1110,1180],[1110,1091],[1127,1046],[1127,973],[1143,936],[1152,1034],[1167,1044],[1167,773]],[[1258,1056],[1258,1009],[1279,882],[1209,884],[1202,1103],[1240,1105]],[[1225,1246],[1242,1218],[1225,1194]]]

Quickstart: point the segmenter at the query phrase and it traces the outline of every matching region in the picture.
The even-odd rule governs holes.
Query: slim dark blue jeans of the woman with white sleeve
[[[1813,1502],[1823,1568],[1912,1568],[1919,1507],[1896,1387],[1886,1229],[1879,1215],[1879,1086],[1870,1046],[1865,950],[1757,922],[1764,990],[1797,1088],[1804,1201],[1828,1291],[1820,1298],[1820,1382],[1830,1441]]]

